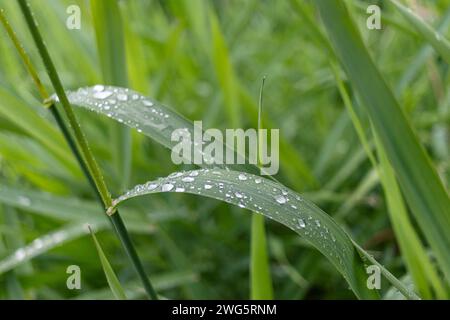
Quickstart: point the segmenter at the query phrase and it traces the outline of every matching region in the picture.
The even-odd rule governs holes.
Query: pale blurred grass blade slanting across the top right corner
[[[429,42],[436,52],[450,64],[450,42],[444,37],[444,35],[423,21],[422,18],[415,14],[410,8],[406,8],[397,0],[390,1],[395,5],[395,7],[397,7],[403,17],[408,20],[410,25],[416,29],[424,40]]]

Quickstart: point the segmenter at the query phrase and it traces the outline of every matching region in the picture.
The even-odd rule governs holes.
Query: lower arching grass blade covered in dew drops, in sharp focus
[[[352,240],[325,212],[279,183],[248,173],[221,169],[175,172],[138,185],[114,201],[159,192],[191,193],[237,205],[292,229],[319,250],[344,276],[358,298],[376,298]],[[413,298],[411,295],[409,298]]]

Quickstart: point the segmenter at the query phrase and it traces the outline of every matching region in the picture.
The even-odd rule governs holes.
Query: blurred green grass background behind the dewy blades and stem
[[[34,9],[66,88],[101,82],[89,2],[49,2],[45,8],[35,5]],[[74,3],[81,8],[81,30],[65,28],[65,10]],[[439,147],[449,145],[448,65],[430,49],[422,62],[417,59],[426,43],[388,1],[380,2],[386,17],[382,30],[366,29],[367,14],[359,8],[365,8],[367,2],[346,3],[389,86],[401,83],[400,92],[396,92],[399,103],[448,188],[450,156],[446,148]],[[417,3],[431,26],[441,23],[447,10],[445,1]],[[28,46],[30,37],[15,2],[0,0],[0,5]],[[329,68],[333,51],[326,37],[317,37],[323,30],[314,5],[308,1],[242,4],[130,0],[121,2],[119,8],[131,87],[177,108],[190,119],[203,120],[207,127],[233,128],[238,123],[256,128],[260,80],[268,75],[264,124],[280,128],[281,170],[277,179],[305,192],[329,213],[338,212],[354,199],[342,223],[396,276],[408,273],[397,231],[391,227],[387,198],[377,175],[371,173],[371,162],[352,128]],[[222,38],[214,30],[220,30]],[[450,35],[448,28],[441,33]],[[18,246],[32,244],[53,231],[67,230],[70,234],[77,221],[65,216],[70,213],[67,210],[51,207],[59,203],[53,201],[54,197],[62,207],[66,197],[78,199],[80,203],[70,202],[76,213],[86,208],[86,202],[91,204],[92,195],[62,136],[39,107],[37,92],[12,44],[3,31],[0,37],[0,183],[7,188],[0,190],[0,258],[5,258]],[[31,47],[27,49],[33,61],[40,61]],[[223,64],[225,60],[219,58],[225,53]],[[405,78],[412,69],[415,71]],[[47,81],[45,76],[42,79]],[[48,82],[45,85],[50,88]],[[351,90],[349,93],[354,96]],[[77,115],[108,184],[121,186],[110,148],[109,122],[84,112]],[[362,119],[364,128],[369,129],[364,122],[367,119]],[[161,146],[132,135],[129,185],[180,169]],[[374,145],[369,143],[369,147]],[[374,177],[368,187],[364,177]],[[15,193],[2,196],[4,190]],[[37,191],[42,199],[35,198],[34,193],[27,195],[27,190]],[[47,202],[42,192],[52,193]],[[42,201],[40,206],[38,199]],[[48,207],[42,205],[45,202]],[[93,205],[90,210],[100,211]],[[150,202],[134,201],[123,209],[123,215],[127,225],[136,222],[136,228],[130,227],[130,231],[145,267],[155,275],[157,287],[158,279],[162,279],[159,282],[164,296],[247,298],[250,218],[239,210],[213,200],[162,194],[153,196]],[[211,215],[212,211],[216,214]],[[95,213],[101,217],[100,212]],[[15,232],[4,226],[11,226]],[[413,217],[412,226],[416,232],[420,230]],[[278,247],[276,252],[270,251],[277,298],[353,297],[338,272],[295,234],[270,222],[266,229],[270,232],[270,248]],[[98,238],[127,296],[142,296],[117,240],[106,232],[99,233]],[[87,234],[69,237],[57,245],[1,274],[0,297],[82,298],[95,296],[95,292],[99,297],[112,297],[104,292],[107,283]],[[423,246],[434,258],[424,241]],[[289,260],[281,259],[284,255],[280,252]],[[71,264],[82,269],[81,292],[65,288],[65,268]],[[382,292],[388,289],[383,283]]]

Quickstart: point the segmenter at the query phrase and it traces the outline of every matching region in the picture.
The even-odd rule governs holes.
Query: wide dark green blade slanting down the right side
[[[394,95],[374,65],[345,3],[335,0],[318,0],[315,3],[337,56],[368,111],[405,199],[449,281],[448,193]]]

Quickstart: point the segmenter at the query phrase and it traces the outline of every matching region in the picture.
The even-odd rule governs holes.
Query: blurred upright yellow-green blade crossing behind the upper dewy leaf
[[[117,0],[92,0],[91,9],[103,80],[110,85],[128,86],[127,59],[123,23]],[[114,146],[111,148],[120,177],[121,189],[126,188],[131,174],[130,130],[111,124]]]

